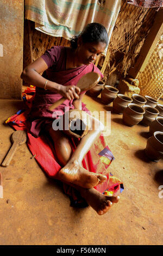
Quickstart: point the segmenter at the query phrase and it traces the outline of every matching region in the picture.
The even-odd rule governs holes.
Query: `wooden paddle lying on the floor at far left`
[[[12,157],[14,156],[14,153],[18,147],[18,145],[22,145],[27,141],[27,136],[26,136],[26,132],[25,131],[15,131],[12,133],[11,135],[11,141],[13,142],[7,156],[5,157],[5,159],[2,162],[2,166],[3,167],[7,167],[10,164],[10,161],[12,159]]]

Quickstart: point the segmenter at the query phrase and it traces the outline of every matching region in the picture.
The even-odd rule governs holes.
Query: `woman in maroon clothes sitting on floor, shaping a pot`
[[[84,93],[76,86],[79,79],[88,72],[95,71],[103,75],[93,64],[108,44],[106,29],[99,23],[90,23],[82,33],[71,39],[71,47],[53,46],[39,59],[27,66],[22,72],[21,78],[29,84],[36,86],[35,99],[30,118],[32,126],[30,132],[38,137],[40,131],[48,131],[54,142],[57,161],[62,167],[54,176],[55,179],[72,186],[80,192],[97,214],[105,214],[112,203],[117,203],[118,196],[109,197],[95,189],[102,186],[107,189],[109,176],[103,173],[89,172],[82,167],[82,161],[96,144],[101,135],[103,125],[90,115],[92,130],[80,139],[76,150],[72,151],[70,137],[63,131],[53,130],[54,113],[60,111],[62,115],[66,109],[82,109],[90,113],[82,103]],[[42,73],[42,76],[40,73]],[[59,107],[49,111],[49,106],[62,96],[66,97]],[[61,117],[60,117],[61,118]],[[95,129],[95,125],[98,130]],[[104,192],[104,191],[103,191]]]

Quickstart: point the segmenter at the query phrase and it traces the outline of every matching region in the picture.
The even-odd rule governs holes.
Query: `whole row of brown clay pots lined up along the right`
[[[102,81],[91,90],[90,95],[94,97],[101,93],[101,100],[104,104],[110,105],[113,101],[114,112],[123,114],[124,124],[134,126],[141,122],[149,126],[151,137],[147,140],[145,154],[155,162],[163,158],[163,105],[147,95],[143,97],[133,94],[131,99],[126,95],[118,94],[118,89],[112,86],[104,87]]]

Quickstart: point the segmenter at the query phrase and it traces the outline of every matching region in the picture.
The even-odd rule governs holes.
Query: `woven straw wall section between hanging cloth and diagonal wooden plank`
[[[122,1],[102,66],[106,78],[109,79],[113,72],[117,74],[117,80],[128,75],[152,27],[155,14],[156,8],[136,7]]]

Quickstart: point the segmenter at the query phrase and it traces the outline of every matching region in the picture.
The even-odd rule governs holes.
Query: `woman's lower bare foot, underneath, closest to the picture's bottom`
[[[86,200],[87,204],[89,204],[98,215],[105,214],[113,203],[118,203],[120,199],[117,197],[108,197],[104,194],[101,194],[95,188],[90,188],[88,190],[82,188],[80,189],[81,196]]]

